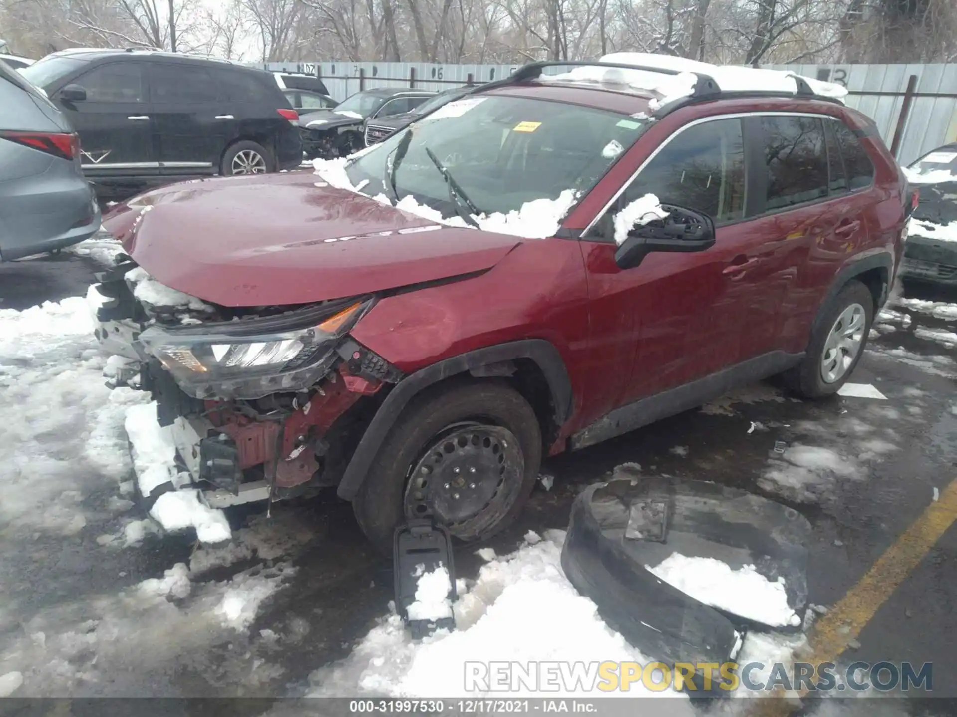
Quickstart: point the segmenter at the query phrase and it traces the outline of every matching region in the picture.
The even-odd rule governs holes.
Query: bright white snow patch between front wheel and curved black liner
[[[479,696],[483,693],[465,690],[466,662],[648,662],[568,582],[559,564],[564,538],[564,532],[546,532],[544,540],[526,542],[517,552],[483,565],[471,590],[454,606],[457,630],[451,634],[440,630],[412,641],[402,619],[389,615],[345,661],[312,674],[310,696]],[[619,694],[643,691],[633,684],[630,692]]]

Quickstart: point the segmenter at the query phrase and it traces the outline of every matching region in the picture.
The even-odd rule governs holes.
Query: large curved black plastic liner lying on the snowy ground
[[[658,503],[666,506],[664,541],[632,537],[635,509]],[[575,499],[562,569],[602,619],[649,658],[725,663],[737,656],[741,633],[768,625],[709,607],[645,565],[673,553],[719,559],[733,569],[753,564],[768,579],[785,579],[789,607],[803,622],[811,535],[800,513],[744,490],[659,477],[619,479],[590,486]],[[795,632],[800,623],[773,629]]]

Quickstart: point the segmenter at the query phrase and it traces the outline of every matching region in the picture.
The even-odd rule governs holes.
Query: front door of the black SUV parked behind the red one
[[[79,134],[83,173],[91,180],[156,175],[155,129],[138,58],[106,62],[75,77],[86,99],[57,99]]]

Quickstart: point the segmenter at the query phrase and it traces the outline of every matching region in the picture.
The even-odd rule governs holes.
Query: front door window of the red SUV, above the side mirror
[[[648,193],[663,204],[709,214],[715,222],[741,219],[745,213],[741,120],[702,122],[680,133],[625,189],[621,206]]]

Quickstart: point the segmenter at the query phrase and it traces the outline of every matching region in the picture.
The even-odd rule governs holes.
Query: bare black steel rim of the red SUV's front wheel
[[[500,425],[467,422],[440,431],[412,465],[406,486],[407,518],[433,518],[456,537],[491,528],[522,486],[519,440]]]

